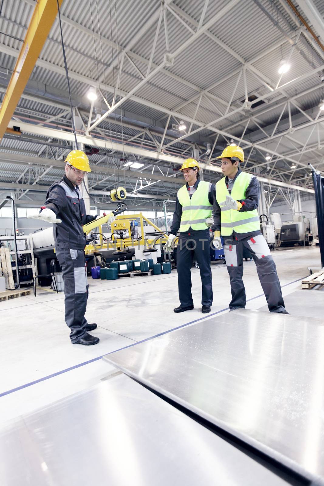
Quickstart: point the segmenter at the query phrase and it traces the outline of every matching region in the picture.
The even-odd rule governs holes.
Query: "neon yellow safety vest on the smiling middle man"
[[[200,181],[196,191],[191,198],[188,193],[188,188],[182,186],[177,192],[179,203],[182,206],[182,216],[180,222],[179,232],[188,231],[191,229],[207,229],[206,218],[210,218],[212,213],[212,205],[209,202],[208,194],[211,190],[209,182]]]

